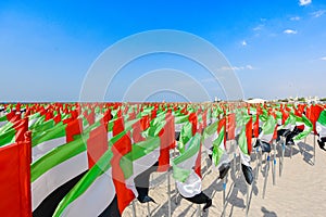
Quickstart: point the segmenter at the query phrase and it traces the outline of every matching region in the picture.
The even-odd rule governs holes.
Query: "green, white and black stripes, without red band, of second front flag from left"
[[[34,162],[30,167],[33,215],[52,215],[61,199],[87,170],[87,151],[82,138]]]

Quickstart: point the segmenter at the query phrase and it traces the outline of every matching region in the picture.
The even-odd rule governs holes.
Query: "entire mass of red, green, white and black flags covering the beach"
[[[253,148],[271,152],[272,141],[280,137],[292,145],[314,132],[325,150],[325,108],[275,103],[0,104],[0,196],[10,199],[1,199],[0,212],[121,216],[136,199],[154,202],[150,175],[170,170],[180,195],[206,209],[212,200],[202,191],[202,151],[223,179],[233,156],[226,142],[234,141],[251,184]],[[20,204],[16,210],[10,208],[13,203]]]

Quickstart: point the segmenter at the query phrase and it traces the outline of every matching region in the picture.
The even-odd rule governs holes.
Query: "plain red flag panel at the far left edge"
[[[0,148],[1,216],[32,217],[30,133],[24,140]]]

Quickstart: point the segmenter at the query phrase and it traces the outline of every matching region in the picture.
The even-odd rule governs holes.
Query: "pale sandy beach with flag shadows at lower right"
[[[316,162],[313,165],[313,136],[298,142],[292,149],[286,148],[284,168],[279,176],[279,163],[281,159],[281,146],[277,145],[275,184],[273,184],[273,156],[271,152],[271,167],[267,177],[265,197],[263,199],[263,186],[266,169],[265,155],[262,157],[262,166],[259,169],[258,179],[249,187],[249,213],[248,216],[325,216],[326,205],[326,157],[325,152],[316,144]],[[202,155],[203,191],[213,200],[213,206],[201,216],[222,216],[223,213],[223,181],[216,180],[218,171],[206,167],[205,155]],[[251,166],[256,171],[258,161],[255,154],[251,155]],[[239,170],[239,157],[237,158],[237,170],[234,165],[227,177],[226,184],[226,208],[225,216],[246,216],[247,210],[247,183],[242,173]],[[240,171],[240,173],[239,173]],[[135,201],[136,216],[167,216],[166,174],[153,174],[151,178],[150,195],[156,204],[140,204]],[[197,204],[175,195],[175,182],[171,176],[171,206],[172,216],[198,216]],[[201,205],[203,207],[203,205]],[[148,209],[149,208],[149,209]],[[133,216],[133,206],[126,208],[123,216]]]

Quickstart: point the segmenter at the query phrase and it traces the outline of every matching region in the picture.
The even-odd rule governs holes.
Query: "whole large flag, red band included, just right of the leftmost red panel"
[[[60,145],[30,166],[34,216],[51,216],[59,202],[108,150],[108,132],[100,125]]]

